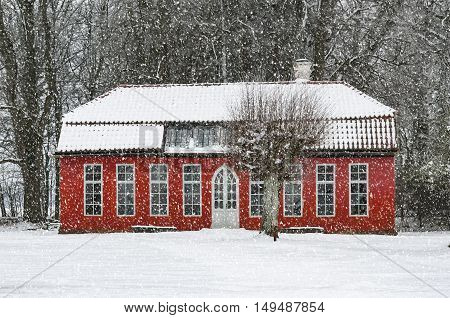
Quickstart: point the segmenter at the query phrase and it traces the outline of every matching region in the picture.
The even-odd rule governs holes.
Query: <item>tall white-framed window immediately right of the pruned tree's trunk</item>
[[[290,180],[284,183],[284,215],[302,215],[302,167],[292,165],[290,167]]]

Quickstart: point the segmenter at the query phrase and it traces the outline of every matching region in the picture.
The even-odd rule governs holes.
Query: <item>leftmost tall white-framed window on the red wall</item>
[[[102,215],[102,165],[84,166],[84,214]]]

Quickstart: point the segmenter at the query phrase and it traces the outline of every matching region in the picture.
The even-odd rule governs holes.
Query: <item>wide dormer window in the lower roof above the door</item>
[[[171,126],[167,128],[166,147],[205,148],[226,145],[228,132],[221,126]]]

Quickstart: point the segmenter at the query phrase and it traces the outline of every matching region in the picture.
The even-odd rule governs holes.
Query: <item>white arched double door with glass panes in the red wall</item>
[[[239,228],[238,182],[226,166],[213,176],[212,228]]]

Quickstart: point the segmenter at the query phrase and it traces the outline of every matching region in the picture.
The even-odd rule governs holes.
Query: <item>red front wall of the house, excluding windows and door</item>
[[[212,178],[222,165],[238,177],[239,226],[258,229],[260,217],[250,217],[249,174],[234,167],[227,158],[146,157],[146,156],[62,156],[60,159],[61,233],[126,232],[134,225],[172,226],[178,230],[210,228],[212,223]],[[116,213],[116,164],[135,166],[135,214]],[[149,166],[166,163],[169,167],[168,216],[150,215]],[[182,165],[201,164],[202,214],[183,215]],[[326,233],[395,233],[395,175],[393,156],[304,158],[302,164],[303,209],[300,217],[283,216],[280,194],[279,228],[322,227]],[[335,165],[335,215],[316,215],[316,165]],[[349,165],[368,165],[368,216],[350,216]],[[103,206],[101,216],[84,215],[84,165],[102,164]]]

